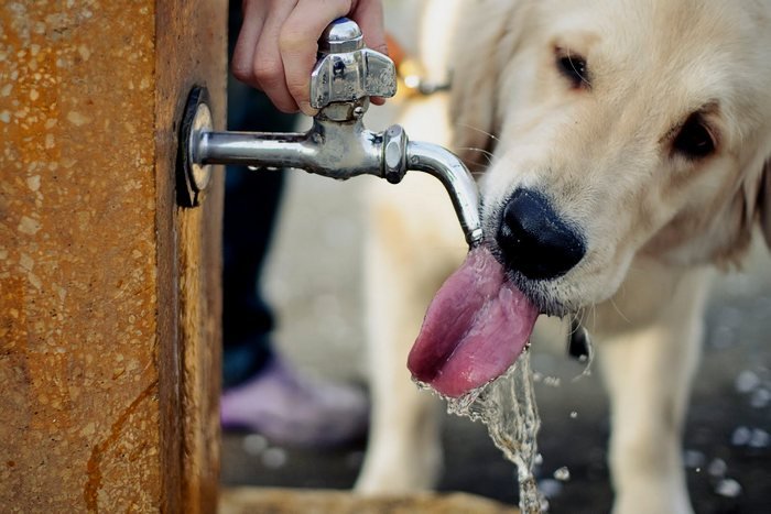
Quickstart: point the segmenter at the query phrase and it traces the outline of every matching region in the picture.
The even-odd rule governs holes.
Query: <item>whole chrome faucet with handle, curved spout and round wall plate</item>
[[[182,123],[182,203],[193,207],[200,201],[211,164],[294,167],[337,179],[376,175],[392,184],[409,169],[420,171],[444,184],[466,241],[478,245],[479,194],[463,162],[439,145],[409,141],[398,124],[379,133],[363,125],[369,97],[397,91],[393,62],[365,47],[359,26],[345,18],[329,24],[318,44],[311,75],[311,106],[318,113],[307,132],[215,132],[206,90],[194,88]]]

